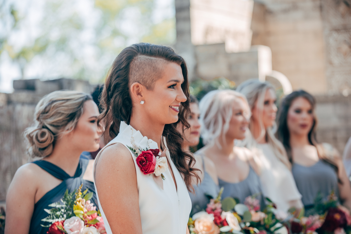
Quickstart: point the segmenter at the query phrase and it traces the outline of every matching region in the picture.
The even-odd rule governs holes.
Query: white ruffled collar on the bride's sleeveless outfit
[[[143,149],[158,149],[158,145],[155,141],[148,139],[146,136],[143,136],[140,131],[135,130],[131,125],[127,125],[126,122],[121,121],[119,126],[119,132],[123,135],[130,136],[130,138],[134,138],[137,146]],[[130,142],[129,142],[130,143]],[[129,144],[128,144],[129,145]],[[162,136],[161,147],[163,149],[167,149],[166,138]]]

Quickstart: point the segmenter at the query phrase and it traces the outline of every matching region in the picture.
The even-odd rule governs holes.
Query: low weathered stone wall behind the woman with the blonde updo
[[[0,93],[0,201],[4,201],[16,170],[28,162],[23,131],[33,123],[35,105],[45,94],[60,89],[91,93],[87,81],[15,80],[14,92]]]

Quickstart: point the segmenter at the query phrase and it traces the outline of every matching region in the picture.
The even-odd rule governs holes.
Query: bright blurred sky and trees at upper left
[[[172,45],[174,0],[0,0],[0,92],[14,79],[103,82],[138,42]]]

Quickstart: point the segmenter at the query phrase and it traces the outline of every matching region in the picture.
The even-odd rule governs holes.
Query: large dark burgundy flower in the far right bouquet
[[[338,208],[330,208],[321,228],[327,232],[334,232],[335,229],[345,227],[346,225],[347,220],[345,213]]]

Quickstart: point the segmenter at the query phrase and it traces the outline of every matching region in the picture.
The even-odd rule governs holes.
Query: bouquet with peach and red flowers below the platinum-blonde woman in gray
[[[249,196],[244,204],[233,198],[221,202],[220,190],[216,199],[211,199],[206,211],[194,214],[188,221],[191,234],[259,233],[288,234],[287,228],[276,217],[274,204],[269,201],[264,212],[256,196]]]

